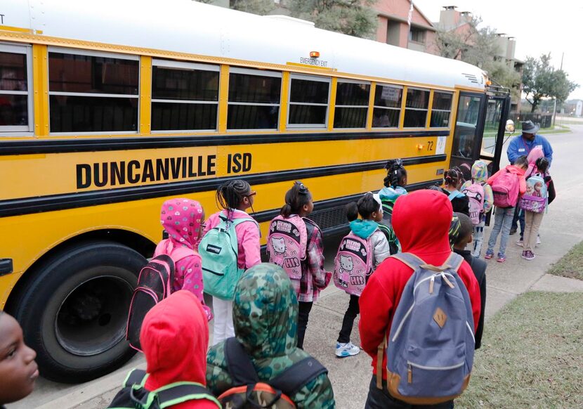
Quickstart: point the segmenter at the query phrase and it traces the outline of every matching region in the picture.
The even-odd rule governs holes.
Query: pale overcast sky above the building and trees
[[[539,57],[551,52],[553,65],[563,70],[577,88],[570,98],[583,99],[583,2],[578,0],[413,0],[428,19],[439,20],[443,6],[471,11],[489,25],[516,39],[515,57]]]

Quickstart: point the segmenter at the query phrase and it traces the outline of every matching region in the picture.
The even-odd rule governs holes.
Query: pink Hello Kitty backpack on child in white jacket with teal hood
[[[372,273],[372,245],[354,233],[344,236],[334,259],[334,284],[351,295],[362,294]]]

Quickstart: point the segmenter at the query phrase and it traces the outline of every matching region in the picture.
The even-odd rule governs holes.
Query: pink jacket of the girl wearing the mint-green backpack
[[[216,212],[207,220],[207,226],[204,228],[204,234],[207,234],[211,228],[214,228],[221,222],[218,215],[221,214],[223,217],[227,216],[226,210],[221,210],[221,212]],[[242,210],[232,210],[230,212],[232,219],[249,219],[251,216]],[[259,243],[259,229],[255,223],[240,223],[235,226],[235,232],[237,233],[237,247],[239,257],[237,258],[237,267],[244,268],[247,270],[261,263],[261,250]]]

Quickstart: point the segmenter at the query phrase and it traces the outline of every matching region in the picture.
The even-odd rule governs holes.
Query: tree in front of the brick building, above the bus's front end
[[[435,38],[440,56],[454,58],[476,65],[487,72],[488,77],[512,90],[520,98],[520,74],[494,56],[499,55],[498,35],[494,28],[478,28],[482,19],[472,16],[465,30],[438,30]]]

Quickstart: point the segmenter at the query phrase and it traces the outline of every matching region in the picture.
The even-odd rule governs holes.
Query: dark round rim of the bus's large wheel
[[[122,342],[133,287],[115,275],[98,275],[77,285],[60,305],[55,335],[78,356],[103,353]]]

